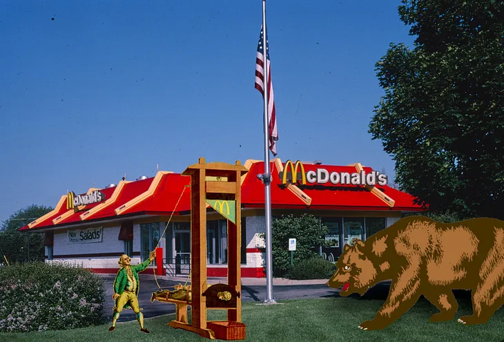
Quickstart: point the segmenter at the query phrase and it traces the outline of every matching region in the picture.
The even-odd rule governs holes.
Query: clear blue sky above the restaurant
[[[260,0],[2,1],[0,221],[68,190],[264,159]],[[394,173],[367,133],[400,0],[266,3],[278,157]],[[51,18],[54,18],[52,20]]]

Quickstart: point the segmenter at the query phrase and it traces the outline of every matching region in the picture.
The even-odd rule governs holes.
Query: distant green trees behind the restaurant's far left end
[[[26,231],[21,232],[18,229],[28,225],[32,220],[44,216],[51,210],[50,207],[30,205],[13,213],[8,220],[2,222],[0,228],[0,253],[3,251],[9,263],[28,261],[28,235],[30,236],[30,260],[43,261],[43,241],[46,234],[35,232],[27,234]],[[1,261],[3,261],[3,254],[0,256]]]

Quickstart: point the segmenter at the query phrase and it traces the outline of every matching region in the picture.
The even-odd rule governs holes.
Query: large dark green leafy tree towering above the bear
[[[403,0],[414,46],[376,64],[369,124],[420,204],[504,218],[504,1]]]

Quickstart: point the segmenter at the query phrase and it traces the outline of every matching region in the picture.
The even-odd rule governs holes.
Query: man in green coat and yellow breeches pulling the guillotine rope
[[[119,258],[119,265],[121,269],[117,272],[114,281],[114,295],[112,299],[115,301],[114,314],[112,316],[112,326],[108,331],[113,331],[115,329],[115,323],[119,319],[119,314],[122,312],[123,308],[131,308],[135,312],[137,321],[140,324],[140,331],[149,333],[144,327],[144,314],[140,312],[140,307],[138,305],[138,292],[140,288],[140,282],[138,279],[138,273],[144,271],[152,263],[155,258],[155,251],[151,251],[149,258],[145,260],[140,265],[130,265],[131,258],[126,254],[122,254]]]

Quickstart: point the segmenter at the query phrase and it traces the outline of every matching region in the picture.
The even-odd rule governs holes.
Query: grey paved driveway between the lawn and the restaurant
[[[144,317],[160,316],[163,314],[173,314],[175,312],[175,305],[170,303],[161,303],[154,301],[151,303],[151,295],[159,287],[155,283],[154,277],[149,275],[139,274],[140,277],[140,292],[139,292],[139,304],[142,307],[142,312]],[[112,300],[113,295],[113,283],[115,276],[104,276],[105,286],[106,286],[106,314],[110,317],[112,316],[112,308],[114,302]],[[173,289],[174,285],[181,283],[180,281],[166,280],[157,278],[157,282],[162,289]],[[218,283],[219,281],[212,281],[209,278],[209,283]],[[184,283],[184,281],[182,281]],[[257,283],[257,282],[251,282]],[[320,283],[320,282],[319,282]],[[338,289],[331,289],[324,284],[308,284],[308,285],[274,285],[273,281],[273,298],[276,301],[281,301],[285,299],[297,299],[297,298],[331,298],[338,297]],[[375,287],[369,289],[366,296],[370,298],[387,298],[389,292],[389,283],[380,283]],[[266,286],[264,285],[242,285],[242,301],[255,301],[262,303],[266,298]],[[133,321],[135,320],[135,314],[132,310],[123,310],[121,316],[119,317],[119,322]],[[166,323],[171,321],[171,318],[166,319]]]

